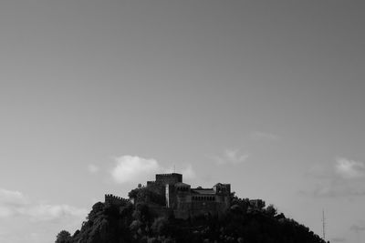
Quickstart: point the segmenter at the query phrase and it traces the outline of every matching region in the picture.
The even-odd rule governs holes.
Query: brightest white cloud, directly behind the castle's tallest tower
[[[154,158],[143,158],[138,156],[122,156],[115,159],[116,165],[110,171],[114,182],[123,183],[139,183],[141,178],[152,178],[155,174],[171,173],[172,168],[162,167],[162,165]],[[195,177],[192,165],[187,165],[177,171],[183,174],[184,178]]]

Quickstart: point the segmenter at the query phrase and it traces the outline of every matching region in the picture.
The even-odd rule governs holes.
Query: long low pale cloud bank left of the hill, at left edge
[[[84,218],[87,210],[68,205],[32,202],[23,193],[0,188],[0,218],[25,217],[32,221]]]

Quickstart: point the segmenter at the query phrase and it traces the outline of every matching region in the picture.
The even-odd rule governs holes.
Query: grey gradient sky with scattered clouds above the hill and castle
[[[362,1],[0,2],[0,242],[154,174],[365,240]]]

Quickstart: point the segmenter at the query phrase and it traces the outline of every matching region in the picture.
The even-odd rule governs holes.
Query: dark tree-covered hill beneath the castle
[[[202,215],[178,219],[161,216],[148,202],[121,206],[96,203],[82,227],[72,236],[65,230],[57,243],[121,242],[235,242],[325,243],[309,228],[277,214],[276,208],[255,208],[249,200],[232,195],[232,206],[223,217]]]

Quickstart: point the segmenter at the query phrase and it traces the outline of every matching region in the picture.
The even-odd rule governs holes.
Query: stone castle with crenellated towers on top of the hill
[[[219,217],[231,205],[230,184],[217,183],[212,188],[192,188],[183,183],[183,175],[178,173],[157,174],[154,181],[147,181],[145,188],[164,197],[163,204],[151,204],[151,208],[159,212],[172,211],[175,218],[206,214]],[[130,199],[135,202],[137,198]],[[113,205],[125,203],[123,198],[112,195],[106,195],[105,202]]]

